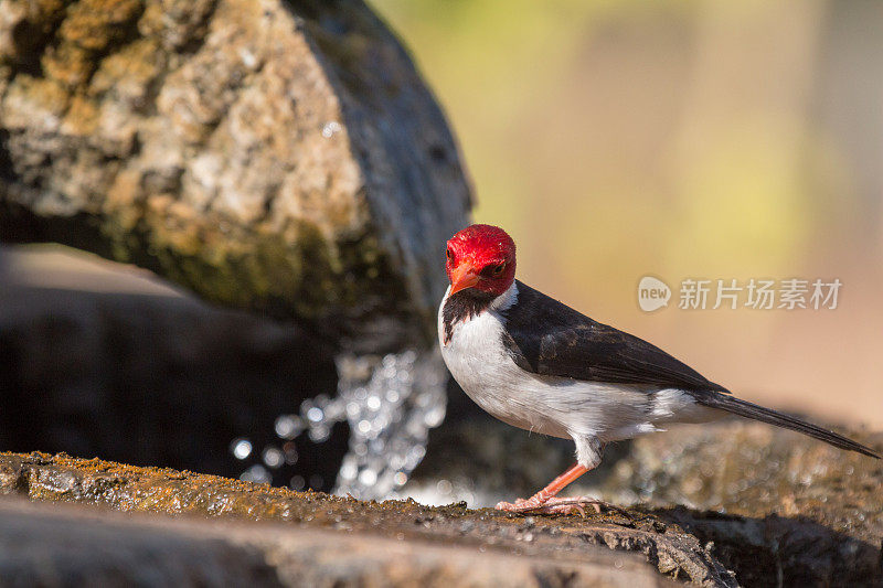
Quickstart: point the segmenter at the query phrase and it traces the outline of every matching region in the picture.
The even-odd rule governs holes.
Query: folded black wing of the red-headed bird
[[[502,312],[503,345],[522,370],[592,382],[727,392],[647,341],[517,284],[518,300]]]

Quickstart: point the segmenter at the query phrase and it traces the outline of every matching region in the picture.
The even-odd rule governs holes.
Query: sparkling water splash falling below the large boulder
[[[295,440],[306,434],[322,442],[338,423],[350,428],[349,451],[341,463],[334,493],[360,499],[394,495],[426,453],[429,429],[445,418],[447,377],[437,352],[405,351],[384,356],[345,354],[337,359],[338,392],[304,400],[297,414],[281,415],[274,429],[281,447],[260,450],[263,463],[241,478],[269,482],[272,469],[298,460]],[[247,439],[235,439],[231,452],[240,460],[253,453]],[[309,487],[322,480],[310,477]],[[289,484],[301,490],[307,480]]]

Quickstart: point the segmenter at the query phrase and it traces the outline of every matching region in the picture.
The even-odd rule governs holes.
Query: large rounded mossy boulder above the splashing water
[[[0,239],[131,261],[349,349],[429,341],[469,190],[357,0],[0,0]]]

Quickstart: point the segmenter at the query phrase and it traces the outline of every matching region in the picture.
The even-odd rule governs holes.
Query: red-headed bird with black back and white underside
[[[447,242],[445,255],[450,285],[438,309],[438,341],[454,378],[503,423],[576,446],[573,467],[498,510],[572,513],[592,504],[600,512],[606,504],[598,500],[557,494],[600,463],[605,445],[726,414],[881,458],[842,435],[737,398],[651,343],[515,279],[515,243],[500,227],[468,226]]]

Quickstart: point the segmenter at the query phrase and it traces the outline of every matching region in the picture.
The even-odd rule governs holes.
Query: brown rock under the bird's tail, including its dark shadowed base
[[[850,436],[880,450],[883,435]],[[683,427],[632,443],[596,493],[650,501],[748,586],[883,584],[883,461],[764,425]],[[627,489],[626,492],[623,490]],[[719,515],[700,515],[682,504]]]

